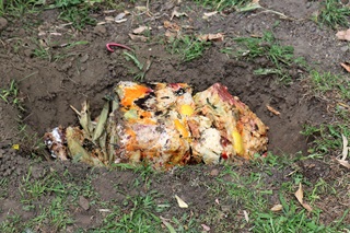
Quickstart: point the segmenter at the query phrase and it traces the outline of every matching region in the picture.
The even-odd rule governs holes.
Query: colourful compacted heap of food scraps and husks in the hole
[[[219,83],[192,95],[186,83],[125,81],[95,120],[88,102],[81,112],[73,109],[80,126],[59,126],[44,137],[54,158],[168,168],[233,162],[267,151],[268,128]]]

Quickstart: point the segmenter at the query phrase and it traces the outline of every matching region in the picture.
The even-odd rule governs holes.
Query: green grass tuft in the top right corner
[[[349,26],[350,8],[342,5],[340,0],[322,1],[322,9],[315,21],[320,25],[336,30],[339,26]]]

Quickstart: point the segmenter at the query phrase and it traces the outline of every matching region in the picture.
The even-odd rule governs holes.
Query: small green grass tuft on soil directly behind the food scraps
[[[202,42],[195,36],[186,35],[182,38],[174,38],[170,42],[166,49],[172,55],[179,55],[183,62],[188,62],[200,58],[210,45],[210,42]]]

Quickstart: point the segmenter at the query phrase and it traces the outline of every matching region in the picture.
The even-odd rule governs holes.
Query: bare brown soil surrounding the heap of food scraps
[[[102,203],[124,203],[124,211],[127,212],[132,207],[130,201],[126,201],[127,197],[142,196],[150,190],[160,194],[155,198],[158,203],[168,202],[173,206],[160,215],[179,219],[187,213],[187,220],[184,220],[187,225],[191,218],[208,214],[208,210],[215,206],[215,199],[222,200],[220,214],[224,213],[225,217],[194,223],[192,232],[203,231],[201,224],[210,225],[210,232],[254,231],[250,223],[243,224],[245,217],[243,209],[240,209],[240,201],[234,202],[209,191],[208,186],[214,186],[215,178],[230,179],[225,166],[196,165],[164,173],[150,172],[144,179],[144,174],[135,170],[92,168],[81,163],[54,161],[50,158],[43,147],[42,137],[56,126],[78,125],[71,105],[80,108],[81,103],[88,100],[92,115],[97,116],[104,97],[112,93],[116,83],[133,80],[131,69],[135,70],[136,66],[126,60],[122,54],[125,49],[114,47],[114,53],[108,51],[106,44],[110,42],[135,49],[142,63],[151,61],[144,81],[186,82],[194,86],[195,92],[215,82],[226,85],[232,95],[238,96],[269,127],[269,152],[288,160],[308,154],[313,138],[300,133],[305,124],[319,125],[334,119],[330,109],[332,103],[311,93],[306,68],[290,66],[288,73],[291,82],[285,84],[276,74],[254,74],[254,70],[269,67],[270,60],[236,58],[222,53],[224,48],[235,48],[235,37],[262,36],[269,31],[281,45],[293,46],[295,57],[304,57],[314,69],[345,73],[339,63],[349,59],[348,44],[339,42],[331,28],[319,27],[311,20],[320,9],[318,1],[260,1],[260,5],[283,13],[287,19],[273,12],[256,10],[244,13],[228,11],[206,20],[203,13],[211,10],[192,1],[150,1],[149,13],[138,12],[137,5],[145,5],[145,2],[125,3],[124,9],[110,13],[106,12],[107,9],[91,12],[97,22],[106,22],[106,16],[116,16],[124,10],[130,14],[125,16],[125,22],[107,21],[96,26],[89,25],[82,31],[57,20],[58,9],[45,10],[37,15],[30,14],[22,20],[5,15],[0,19],[0,89],[10,86],[14,80],[19,90],[16,98],[20,101],[20,105],[16,105],[0,100],[0,178],[3,183],[8,180],[0,186],[0,222],[14,213],[21,215],[23,222],[37,217],[39,210],[48,207],[56,196],[52,190],[44,191],[45,195],[26,203],[23,200],[28,198],[28,194],[24,194],[24,198],[23,180],[27,178],[27,182],[35,183],[58,176],[62,183],[82,185],[89,189],[77,190],[78,196],[70,197],[71,205],[67,207],[67,212],[73,219],[72,223],[62,228],[44,221],[33,225],[33,232],[98,231],[105,224],[103,220],[108,213],[102,209],[113,208]],[[186,12],[187,16],[172,18],[174,9]],[[183,35],[222,33],[224,39],[212,42],[201,57],[185,62],[180,55],[170,53],[164,21],[182,25]],[[144,35],[148,36],[147,40],[131,39],[129,34],[142,25],[152,28]],[[44,58],[36,54],[38,50],[46,53]],[[267,105],[280,112],[280,115],[275,115]],[[20,150],[12,149],[15,144],[20,145]],[[292,179],[291,173],[301,174],[311,184],[322,178],[332,184],[335,189],[339,179],[349,180],[349,171],[335,164],[336,156],[335,152],[324,160],[301,160],[282,170],[272,170],[270,174],[254,163],[244,162],[231,168],[242,175],[261,173],[264,183],[273,190],[268,197],[272,207],[279,198],[279,186]],[[140,185],[131,185],[135,180]],[[324,193],[314,202],[320,209],[320,224],[331,224],[343,217],[342,222],[349,226],[350,214],[345,215],[345,212],[349,211],[350,206],[350,184],[345,187],[337,195]],[[293,199],[295,191],[291,190],[288,199]],[[190,207],[177,208],[173,198],[175,194],[189,202]],[[98,199],[97,203],[92,201],[94,195]],[[220,221],[230,224],[215,229]],[[18,230],[25,229],[19,226]]]

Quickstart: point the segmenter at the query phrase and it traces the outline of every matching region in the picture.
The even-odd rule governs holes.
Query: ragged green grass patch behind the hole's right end
[[[305,67],[305,60],[294,56],[292,46],[282,46],[271,32],[265,32],[262,37],[236,37],[233,39],[237,48],[224,48],[221,51],[234,54],[238,58],[254,60],[266,58],[270,66],[256,69],[257,75],[276,74],[285,84],[292,82],[293,77],[289,73],[290,67]],[[233,50],[237,50],[233,53]]]

